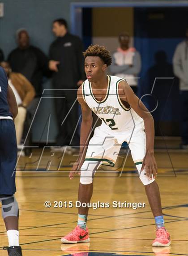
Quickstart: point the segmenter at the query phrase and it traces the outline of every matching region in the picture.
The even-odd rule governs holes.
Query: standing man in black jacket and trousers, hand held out
[[[68,33],[64,19],[55,20],[52,31],[57,37],[49,50],[52,85],[54,89],[63,89],[56,90],[61,98],[55,99],[59,126],[56,145],[62,150],[66,145],[79,145],[77,88],[85,80],[83,44],[78,36]]]

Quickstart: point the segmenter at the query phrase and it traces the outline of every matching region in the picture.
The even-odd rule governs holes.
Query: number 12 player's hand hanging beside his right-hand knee
[[[154,153],[147,152],[142,162],[141,171],[146,172],[148,179],[152,180],[152,174],[154,179],[157,176],[157,163],[155,161]]]

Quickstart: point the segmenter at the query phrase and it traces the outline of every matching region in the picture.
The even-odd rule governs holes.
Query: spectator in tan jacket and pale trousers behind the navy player
[[[30,102],[34,99],[35,90],[30,81],[20,73],[12,72],[8,62],[1,62],[0,66],[4,68],[7,73],[9,85],[12,88],[18,106],[18,114],[14,119],[17,145],[21,143],[21,136],[23,132],[24,121],[26,119],[26,108]]]

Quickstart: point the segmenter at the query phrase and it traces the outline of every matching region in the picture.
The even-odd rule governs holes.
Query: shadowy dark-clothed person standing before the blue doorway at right
[[[179,117],[177,80],[174,79],[172,64],[168,63],[165,51],[157,51],[154,59],[154,65],[149,68],[141,84],[145,94],[143,101],[154,117],[156,135],[172,135]]]

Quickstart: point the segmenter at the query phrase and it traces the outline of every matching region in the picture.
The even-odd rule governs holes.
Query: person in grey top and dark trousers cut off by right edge
[[[188,26],[186,39],[176,46],[173,57],[175,76],[179,78],[179,96],[181,105],[180,135],[182,143],[180,148],[188,149]]]

